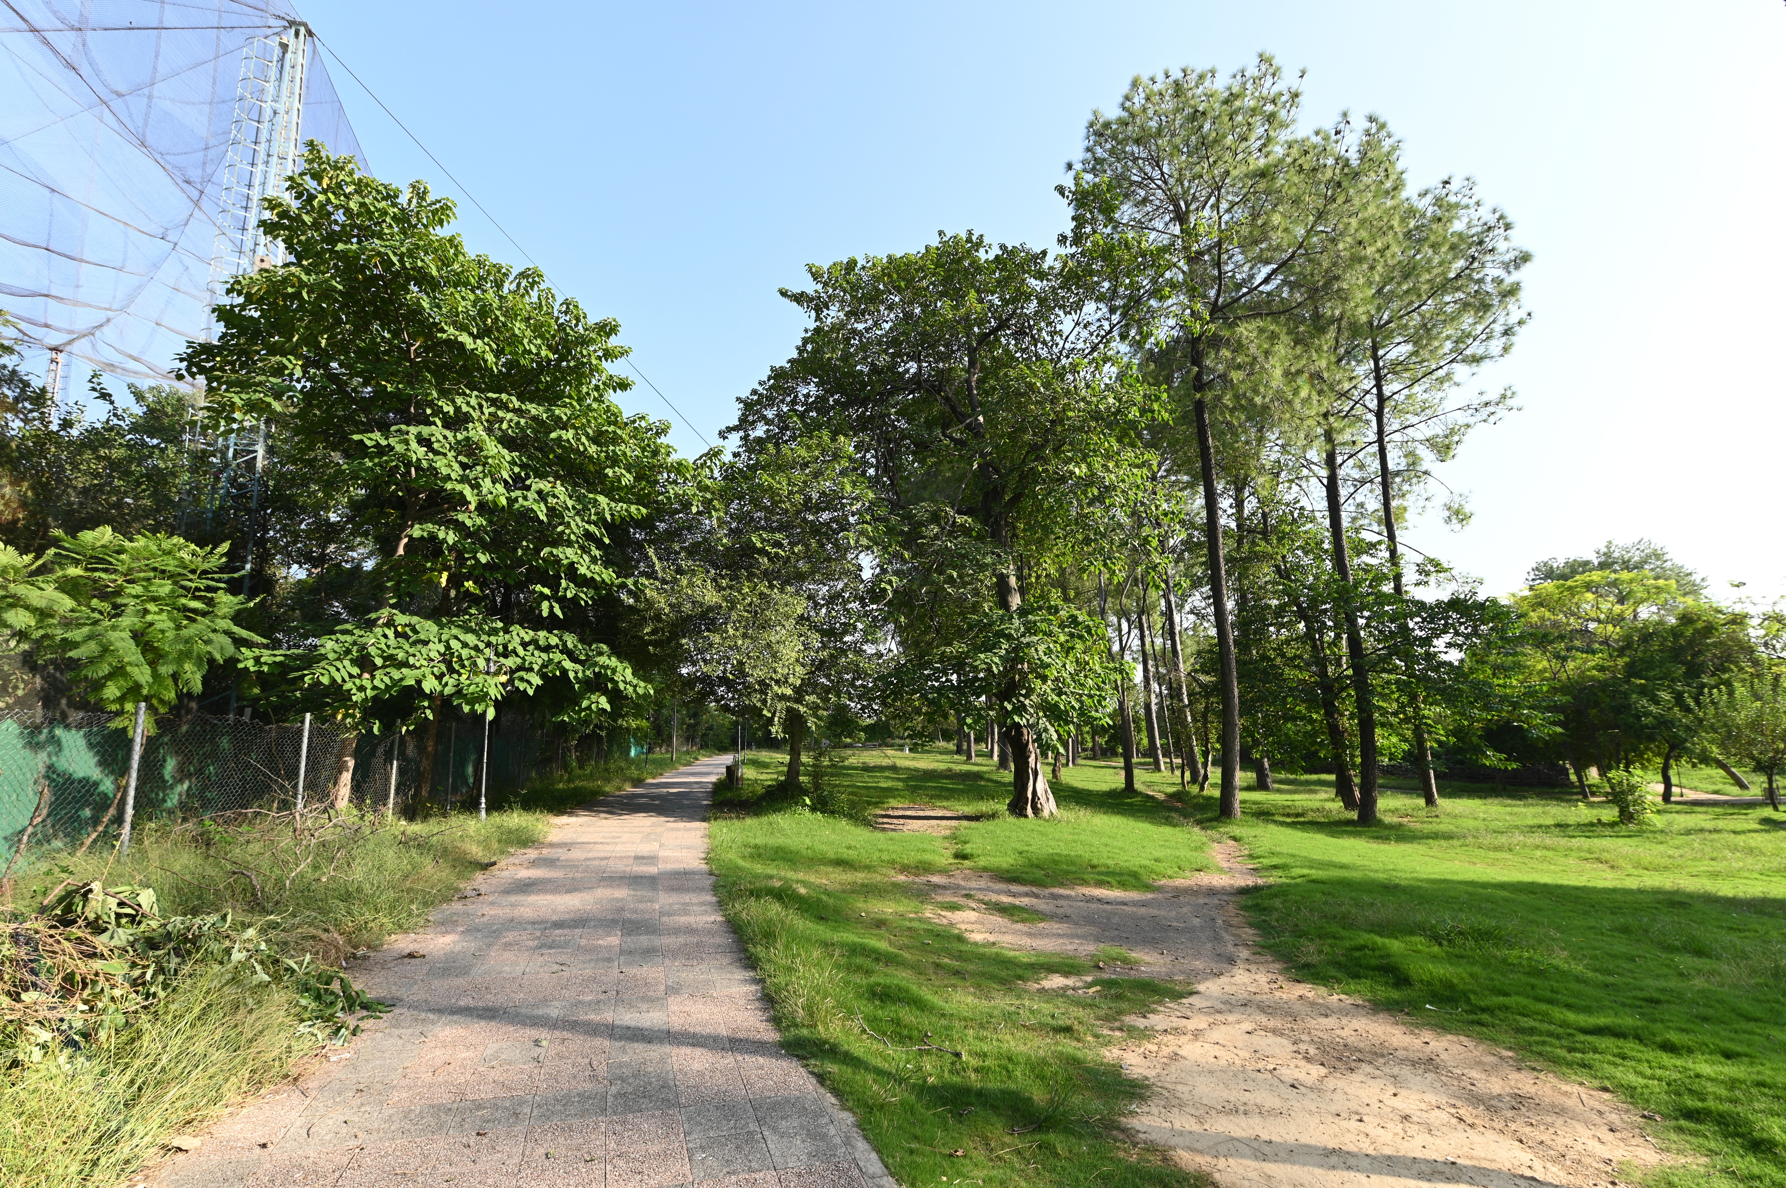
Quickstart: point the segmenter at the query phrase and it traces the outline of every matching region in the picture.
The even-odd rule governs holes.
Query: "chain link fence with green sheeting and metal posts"
[[[127,797],[132,722],[105,713],[0,711],[0,866],[25,852],[77,854],[113,845],[125,809],[136,824],[295,807],[452,811],[477,807],[484,722],[443,720],[434,772],[421,788],[423,732],[348,734],[334,724],[268,725],[193,715],[145,731]],[[525,724],[489,732],[488,797],[518,791],[541,759]],[[129,806],[127,806],[129,800]]]

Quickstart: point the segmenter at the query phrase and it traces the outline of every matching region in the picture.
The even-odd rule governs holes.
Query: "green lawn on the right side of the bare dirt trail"
[[[1247,906],[1302,977],[1661,1115],[1707,1163],[1654,1183],[1786,1186],[1786,815],[1441,791],[1386,791],[1373,829],[1316,777],[1243,791],[1234,825],[1189,806],[1270,877]]]

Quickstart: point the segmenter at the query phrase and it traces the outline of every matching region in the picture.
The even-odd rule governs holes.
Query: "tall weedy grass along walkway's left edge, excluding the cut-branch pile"
[[[339,965],[418,927],[489,863],[543,838],[552,813],[668,766],[668,756],[650,756],[539,781],[482,822],[470,813],[411,825],[368,820],[325,832],[295,874],[304,856],[284,838],[245,827],[148,825],[129,859],[39,863],[16,881],[9,909],[29,911],[63,879],[152,886],[164,915],[229,911],[286,956]],[[314,1040],[295,1034],[289,991],[196,975],[188,983],[66,1067],[0,1070],[0,1183],[113,1188],[170,1134],[280,1081],[316,1050]]]

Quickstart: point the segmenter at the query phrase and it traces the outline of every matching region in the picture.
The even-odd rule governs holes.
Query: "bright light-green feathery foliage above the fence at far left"
[[[38,661],[63,665],[84,699],[163,713],[238,641],[259,641],[234,622],[246,600],[225,588],[221,547],[109,527],[55,540],[38,561],[0,545],[0,623]]]

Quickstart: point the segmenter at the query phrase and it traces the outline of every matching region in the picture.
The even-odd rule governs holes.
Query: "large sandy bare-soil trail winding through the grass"
[[[1236,904],[1257,877],[1232,843],[1216,856],[1223,874],[1152,895],[972,872],[922,883],[968,904],[938,916],[977,940],[1081,956],[1114,945],[1141,965],[1106,977],[1197,983],[1191,997],[1132,1020],[1154,1034],[1111,1056],[1154,1084],[1127,1120],[1136,1136],[1220,1188],[1613,1188],[1627,1165],[1661,1161],[1641,1120],[1606,1093],[1284,975]],[[998,902],[1048,920],[1018,924]]]

